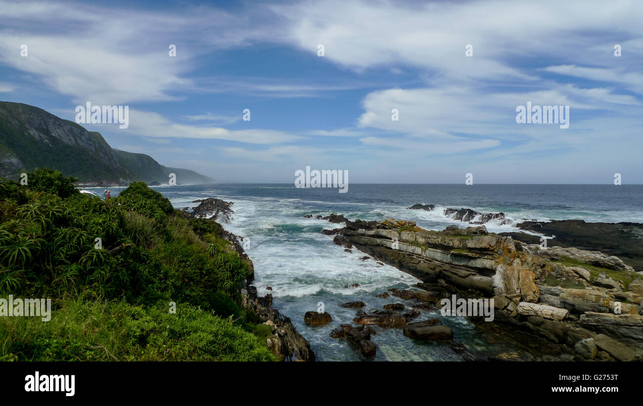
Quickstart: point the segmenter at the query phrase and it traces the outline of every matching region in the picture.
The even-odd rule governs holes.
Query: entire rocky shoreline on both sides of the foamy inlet
[[[234,213],[232,203],[224,200],[194,202],[199,206],[192,211],[183,209],[185,216],[228,222]],[[482,215],[469,209],[452,214],[462,221],[503,218],[503,213]],[[347,250],[359,249],[422,280],[417,291],[390,289],[390,293],[378,295],[410,300],[412,306],[392,303],[383,310],[364,312],[363,303],[343,304],[355,308],[356,316],[352,324],[341,324],[330,335],[347,340],[365,360],[377,351],[370,340],[376,334],[372,326],[400,328],[413,340],[448,341],[464,360],[643,360],[643,272],[636,272],[617,256],[556,243],[543,248],[539,243],[528,243],[538,236],[518,233],[529,236],[521,242],[489,233],[484,225],[427,231],[414,222],[394,219],[352,222],[342,215],[315,218],[346,224],[322,231],[334,236],[336,244]],[[529,231],[535,231],[536,222],[525,223],[525,227],[532,227]],[[241,302],[271,326],[267,346],[281,360],[315,360],[310,343],[291,320],[272,308],[271,294],[257,296],[257,288],[251,285],[253,264],[243,250],[242,238],[226,231],[222,235],[252,271],[240,292]],[[482,356],[454,341],[453,331],[439,319],[416,320],[419,310],[436,310],[441,299],[452,295],[458,299],[493,298],[493,322],[482,317],[469,319],[489,342],[511,344],[518,351]],[[321,325],[332,322],[332,317],[307,312],[304,320]]]

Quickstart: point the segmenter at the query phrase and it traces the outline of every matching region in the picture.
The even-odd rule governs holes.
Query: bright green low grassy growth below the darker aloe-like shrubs
[[[168,309],[163,302],[72,300],[52,311],[49,322],[1,317],[0,361],[276,360],[265,338],[229,320],[189,304],[177,304],[174,314]]]

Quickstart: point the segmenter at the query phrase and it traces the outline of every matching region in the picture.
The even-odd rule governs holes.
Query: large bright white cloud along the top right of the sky
[[[507,60],[544,52],[590,62],[595,55],[579,46],[595,41],[587,31],[619,27],[628,32],[626,38],[643,33],[634,17],[643,12],[643,4],[627,1],[570,1],[545,7],[509,1],[329,0],[271,10],[285,15],[286,40],[305,51],[314,53],[317,44],[323,44],[325,58],[355,69],[406,65],[449,80],[529,81],[536,77]],[[473,45],[471,58],[465,56],[467,44]],[[613,58],[610,48],[602,51]]]

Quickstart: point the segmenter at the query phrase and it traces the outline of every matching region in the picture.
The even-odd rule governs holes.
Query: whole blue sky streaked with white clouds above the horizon
[[[128,106],[128,128],[84,127],[218,182],[310,166],[352,183],[642,184],[642,15],[619,0],[0,0],[0,100],[70,120]],[[517,123],[528,102],[568,106],[569,127]]]

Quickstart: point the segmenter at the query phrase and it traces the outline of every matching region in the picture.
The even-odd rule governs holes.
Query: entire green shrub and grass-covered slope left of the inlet
[[[0,179],[0,297],[52,299],[51,321],[0,317],[0,360],[276,359],[239,306],[248,265],[221,225],[143,182],[100,200],[73,181]]]

